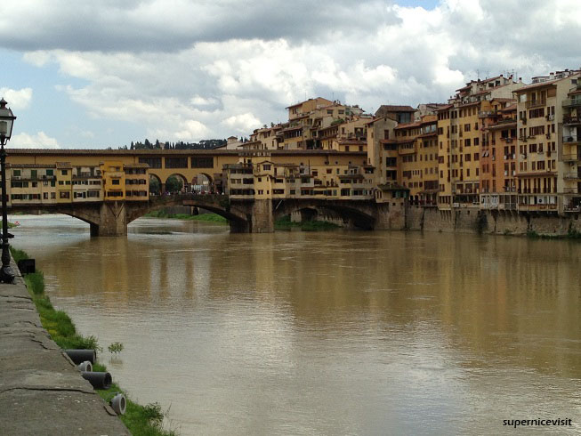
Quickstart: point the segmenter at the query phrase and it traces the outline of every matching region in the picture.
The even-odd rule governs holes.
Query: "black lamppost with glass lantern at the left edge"
[[[8,216],[6,212],[6,150],[4,145],[12,136],[14,114],[10,108],[6,108],[4,98],[0,100],[0,176],[2,177],[2,269],[0,269],[0,282],[13,283],[14,272],[10,267],[10,246],[8,244]]]

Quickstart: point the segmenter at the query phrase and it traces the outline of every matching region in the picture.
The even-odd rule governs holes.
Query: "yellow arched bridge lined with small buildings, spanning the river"
[[[286,214],[310,209],[363,229],[403,228],[404,202],[374,198],[365,152],[335,150],[8,149],[9,212],[47,211],[88,222],[93,236],[125,235],[127,224],[167,206],[221,214],[236,232],[270,232]],[[191,192],[199,176],[208,192]],[[165,193],[168,179],[182,180]],[[161,195],[150,195],[155,178]],[[396,197],[396,196],[394,196]]]

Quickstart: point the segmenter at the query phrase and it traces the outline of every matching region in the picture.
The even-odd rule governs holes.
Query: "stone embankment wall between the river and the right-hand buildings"
[[[516,211],[489,211],[478,207],[462,207],[440,211],[436,207],[408,206],[406,229],[499,235],[565,236],[571,230],[581,231],[577,215],[569,217],[524,214]]]

